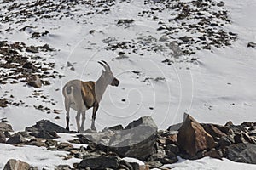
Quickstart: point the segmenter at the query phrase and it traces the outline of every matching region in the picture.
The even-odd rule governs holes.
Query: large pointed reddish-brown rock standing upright
[[[183,125],[178,130],[177,143],[189,156],[196,156],[198,151],[212,149],[215,146],[212,136],[187,114],[184,114]]]

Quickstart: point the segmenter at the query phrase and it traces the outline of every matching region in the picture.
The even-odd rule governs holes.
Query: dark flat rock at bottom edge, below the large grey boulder
[[[117,169],[119,167],[119,157],[117,156],[99,156],[99,157],[89,157],[80,161],[80,168],[90,167],[90,169],[106,169],[112,168]]]

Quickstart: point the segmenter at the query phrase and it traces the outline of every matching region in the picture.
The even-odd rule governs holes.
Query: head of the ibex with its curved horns
[[[119,80],[113,76],[113,72],[108,63],[104,60],[98,61],[98,63],[105,69],[105,71],[102,71],[102,77],[104,77],[105,81],[111,86],[119,86]]]

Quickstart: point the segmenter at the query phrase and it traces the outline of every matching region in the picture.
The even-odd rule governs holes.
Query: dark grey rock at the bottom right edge
[[[227,148],[227,158],[231,161],[256,164],[256,145],[232,144]]]

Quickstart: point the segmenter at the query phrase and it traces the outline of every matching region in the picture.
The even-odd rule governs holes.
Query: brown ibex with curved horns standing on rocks
[[[67,111],[66,129],[69,130],[69,110],[77,111],[76,122],[78,127],[78,132],[84,132],[84,121],[85,121],[85,111],[93,107],[92,111],[92,122],[91,130],[96,131],[95,119],[96,112],[99,108],[99,103],[102,100],[102,96],[108,87],[119,86],[119,80],[113,76],[113,72],[110,70],[110,66],[104,60],[98,61],[105,71],[102,71],[101,77],[96,82],[89,81],[83,82],[80,80],[72,80],[65,84],[62,89],[62,94],[65,97],[65,109]],[[80,116],[82,113],[82,123],[80,125]]]

